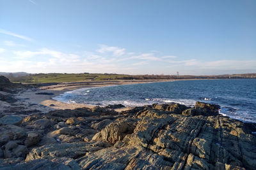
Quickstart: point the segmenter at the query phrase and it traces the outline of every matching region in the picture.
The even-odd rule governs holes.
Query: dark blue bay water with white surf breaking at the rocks
[[[154,103],[180,103],[194,106],[196,101],[219,104],[220,113],[243,122],[256,123],[256,80],[186,80],[116,85],[78,89],[54,97],[65,103],[99,106],[124,104],[143,106]]]

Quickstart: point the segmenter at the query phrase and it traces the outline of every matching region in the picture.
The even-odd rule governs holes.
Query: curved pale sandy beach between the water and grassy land
[[[52,110],[65,110],[70,109],[74,110],[76,108],[93,108],[95,106],[88,104],[77,104],[77,103],[62,103],[52,99],[52,97],[63,94],[64,92],[92,88],[92,87],[105,87],[111,85],[129,85],[129,84],[138,84],[138,83],[153,83],[153,82],[162,82],[162,81],[173,81],[173,80],[122,80],[122,81],[98,81],[98,82],[68,82],[60,83],[58,85],[49,85],[42,86],[34,89],[22,90],[15,95],[20,101],[26,101],[28,104],[38,104],[39,106],[46,106]],[[38,94],[40,93],[40,94]],[[43,94],[42,94],[43,93]],[[51,95],[49,95],[51,94]],[[131,108],[122,108],[116,109],[116,111],[129,110]]]

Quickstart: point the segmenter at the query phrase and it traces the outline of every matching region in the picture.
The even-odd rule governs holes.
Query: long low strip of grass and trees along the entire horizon
[[[250,74],[223,74],[211,76],[193,76],[193,75],[127,75],[127,74],[62,74],[62,73],[49,73],[49,74],[29,74],[27,76],[9,77],[12,82],[17,83],[61,83],[72,81],[109,81],[109,80],[172,80],[172,79],[230,79],[230,78],[256,78],[256,73]]]

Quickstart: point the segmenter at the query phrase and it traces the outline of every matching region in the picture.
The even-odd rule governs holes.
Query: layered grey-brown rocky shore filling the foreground
[[[0,96],[0,169],[256,167],[256,125],[223,117],[217,105],[22,108],[8,90]]]

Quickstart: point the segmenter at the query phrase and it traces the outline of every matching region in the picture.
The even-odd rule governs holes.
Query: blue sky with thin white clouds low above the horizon
[[[256,73],[255,0],[0,0],[0,72]]]

